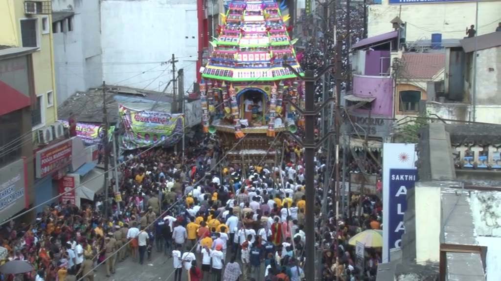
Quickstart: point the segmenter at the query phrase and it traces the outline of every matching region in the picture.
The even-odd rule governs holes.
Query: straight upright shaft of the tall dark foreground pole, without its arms
[[[306,78],[313,78],[313,70],[306,70]],[[306,81],[305,111],[315,110],[315,82]],[[305,277],[307,280],[315,280],[315,116],[305,116],[305,167],[306,172],[306,251]]]

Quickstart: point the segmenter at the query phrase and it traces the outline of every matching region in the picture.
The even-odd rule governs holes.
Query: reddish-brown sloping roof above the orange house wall
[[[445,67],[445,53],[403,53],[401,79],[429,80]]]

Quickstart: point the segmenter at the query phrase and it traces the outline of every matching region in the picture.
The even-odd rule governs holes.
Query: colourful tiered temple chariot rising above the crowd
[[[275,150],[268,148],[277,133],[304,122],[283,102],[289,97],[304,105],[304,85],[283,66],[303,72],[286,25],[289,16],[282,16],[275,0],[233,0],[222,18],[201,70],[204,132],[217,133],[228,148],[248,134],[230,160],[258,164],[265,153],[272,161]]]

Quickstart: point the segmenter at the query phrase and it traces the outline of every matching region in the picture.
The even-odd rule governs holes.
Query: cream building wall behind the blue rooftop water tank
[[[478,2],[478,34],[493,32],[499,21],[499,1]],[[466,26],[475,24],[475,1],[410,3],[403,5],[369,5],[368,36],[393,30],[390,20],[399,16],[407,22],[406,39],[430,39],[431,33],[442,33],[442,38],[462,38]]]

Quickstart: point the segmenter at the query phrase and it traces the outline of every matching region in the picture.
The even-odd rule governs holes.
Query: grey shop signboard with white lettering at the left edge
[[[0,169],[0,221],[28,207],[27,180],[25,158]]]

